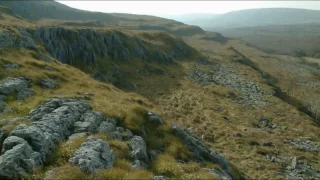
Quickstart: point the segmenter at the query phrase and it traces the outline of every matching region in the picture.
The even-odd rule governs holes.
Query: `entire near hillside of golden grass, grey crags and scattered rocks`
[[[320,178],[319,59],[152,16],[13,12],[0,11],[0,178]]]

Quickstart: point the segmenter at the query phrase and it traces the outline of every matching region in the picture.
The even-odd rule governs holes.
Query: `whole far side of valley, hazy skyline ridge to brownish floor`
[[[244,40],[269,53],[319,57],[319,17],[317,10],[266,8],[193,16],[192,21],[188,16],[172,18]]]

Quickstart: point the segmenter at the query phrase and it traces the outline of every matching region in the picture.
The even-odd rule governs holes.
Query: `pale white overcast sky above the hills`
[[[82,10],[130,14],[221,14],[252,8],[320,9],[320,1],[59,1]]]

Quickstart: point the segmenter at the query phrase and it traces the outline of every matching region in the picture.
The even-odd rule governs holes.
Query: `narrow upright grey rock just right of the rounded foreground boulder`
[[[140,136],[133,136],[129,141],[131,147],[131,158],[133,159],[133,166],[136,169],[145,169],[146,163],[149,162],[147,155],[147,146],[143,138]]]

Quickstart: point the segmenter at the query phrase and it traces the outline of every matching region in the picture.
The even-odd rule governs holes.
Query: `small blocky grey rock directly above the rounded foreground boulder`
[[[74,132],[97,132],[102,121],[103,114],[101,112],[88,111],[82,115],[80,121],[74,124]]]

